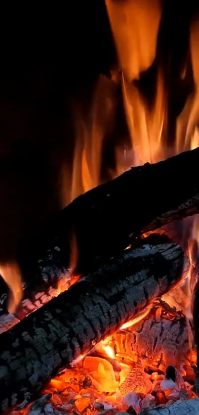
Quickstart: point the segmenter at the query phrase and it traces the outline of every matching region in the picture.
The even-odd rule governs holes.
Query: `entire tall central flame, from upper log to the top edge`
[[[147,105],[132,80],[138,79],[155,59],[161,3],[159,0],[106,0],[106,6],[122,69],[123,102],[135,152],[133,164],[156,162],[168,155],[162,141],[166,122],[163,75],[159,69],[153,108]]]

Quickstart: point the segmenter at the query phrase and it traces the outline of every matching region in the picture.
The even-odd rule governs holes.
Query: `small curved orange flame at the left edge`
[[[17,262],[12,261],[9,264],[0,264],[0,275],[10,289],[8,311],[9,313],[14,313],[22,299],[22,277]]]

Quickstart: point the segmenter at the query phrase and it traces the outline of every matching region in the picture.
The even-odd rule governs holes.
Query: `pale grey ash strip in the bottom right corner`
[[[146,408],[140,412],[140,415],[198,415],[199,398],[190,401],[178,401],[167,407]],[[118,415],[118,414],[117,414]]]

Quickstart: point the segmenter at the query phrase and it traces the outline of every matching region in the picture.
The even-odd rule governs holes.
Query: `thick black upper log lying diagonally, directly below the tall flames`
[[[91,272],[97,259],[121,252],[143,233],[199,213],[198,162],[199,148],[132,168],[80,195],[26,241],[18,254],[25,280],[48,275],[49,265],[67,269],[74,240],[78,272]]]

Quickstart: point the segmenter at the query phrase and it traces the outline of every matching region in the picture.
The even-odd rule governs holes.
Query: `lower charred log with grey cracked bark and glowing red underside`
[[[125,250],[0,337],[0,410],[31,398],[179,282],[183,251],[167,240]]]

